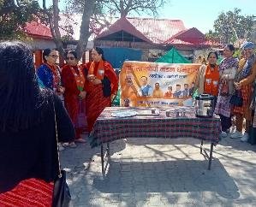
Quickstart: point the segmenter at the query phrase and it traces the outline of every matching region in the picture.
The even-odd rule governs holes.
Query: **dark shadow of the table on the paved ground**
[[[206,170],[207,161],[113,162],[109,171],[93,180],[93,186],[104,193],[130,192],[217,192],[223,198],[239,198],[238,188],[223,165],[216,159],[216,170]],[[156,176],[157,175],[157,176]],[[133,183],[134,182],[134,183]],[[225,186],[226,185],[226,186]],[[227,191],[227,185],[229,191]]]

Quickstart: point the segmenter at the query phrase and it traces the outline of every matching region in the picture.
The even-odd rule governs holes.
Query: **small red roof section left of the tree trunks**
[[[37,21],[26,23],[25,32],[28,35],[40,36],[40,38],[52,38],[50,27]]]

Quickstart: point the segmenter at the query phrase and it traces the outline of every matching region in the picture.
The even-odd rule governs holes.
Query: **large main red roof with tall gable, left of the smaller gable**
[[[97,38],[103,38],[112,33],[125,31],[146,42],[160,44],[183,30],[185,30],[185,27],[180,20],[123,17],[103,33],[100,33]]]

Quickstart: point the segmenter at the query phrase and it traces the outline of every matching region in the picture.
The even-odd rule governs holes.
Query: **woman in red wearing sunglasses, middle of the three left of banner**
[[[62,79],[63,86],[65,87],[64,101],[68,114],[74,124],[76,142],[86,142],[82,139],[80,134],[86,127],[86,113],[85,113],[85,75],[82,68],[77,65],[77,54],[74,50],[69,50],[66,54],[66,62],[68,63],[63,67]],[[66,144],[67,145],[67,144]],[[74,142],[69,146],[75,147]]]

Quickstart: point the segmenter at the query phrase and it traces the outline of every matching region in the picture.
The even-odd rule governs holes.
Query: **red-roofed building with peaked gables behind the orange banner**
[[[220,45],[207,41],[195,27],[187,29],[181,20],[130,17],[122,17],[106,28],[94,38],[94,44],[141,49],[143,61],[154,61],[172,47],[191,59],[194,50]]]

